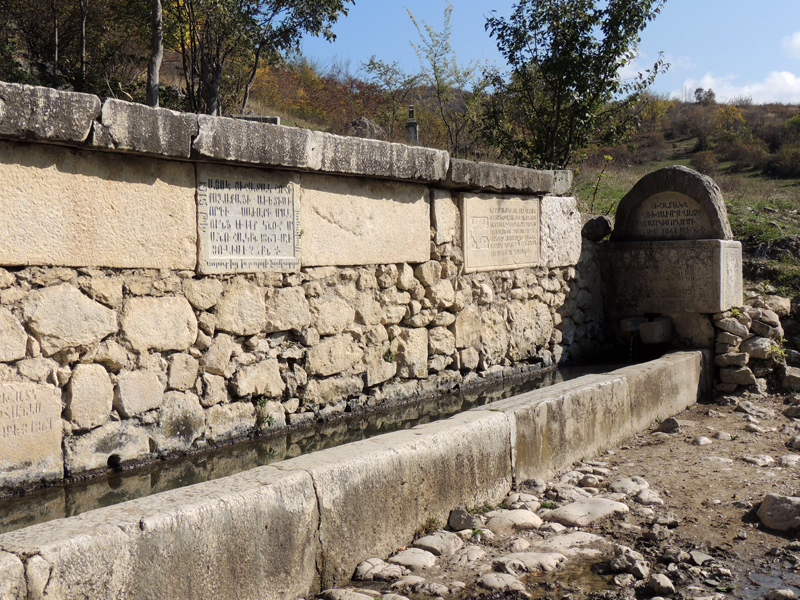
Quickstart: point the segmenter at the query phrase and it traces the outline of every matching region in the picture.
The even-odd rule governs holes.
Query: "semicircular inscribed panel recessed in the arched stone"
[[[711,235],[700,203],[679,192],[661,192],[642,201],[632,215],[630,235],[650,240],[696,240]]]

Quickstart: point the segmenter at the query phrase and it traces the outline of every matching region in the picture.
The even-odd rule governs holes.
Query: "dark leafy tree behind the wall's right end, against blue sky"
[[[520,0],[509,19],[486,29],[510,72],[494,73],[485,135],[509,161],[565,168],[592,140],[618,141],[636,123],[636,106],[661,56],[625,80],[639,34],[665,0]]]

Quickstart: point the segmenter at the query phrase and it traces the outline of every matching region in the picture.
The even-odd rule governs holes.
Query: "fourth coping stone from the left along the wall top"
[[[447,176],[450,157],[443,150],[312,133],[313,166],[320,171],[424,182],[440,182]]]

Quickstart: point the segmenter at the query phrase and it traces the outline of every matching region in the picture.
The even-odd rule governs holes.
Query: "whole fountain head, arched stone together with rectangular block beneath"
[[[719,187],[686,167],[645,175],[617,208],[604,245],[612,317],[714,314],[743,303],[742,246]]]

